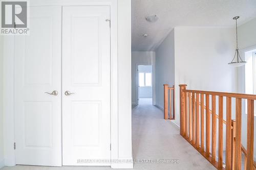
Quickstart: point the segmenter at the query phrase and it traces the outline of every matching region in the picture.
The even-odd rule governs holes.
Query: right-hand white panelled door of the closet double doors
[[[110,165],[109,19],[109,6],[62,7],[63,165]]]

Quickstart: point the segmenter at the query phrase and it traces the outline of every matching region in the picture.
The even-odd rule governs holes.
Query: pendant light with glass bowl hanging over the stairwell
[[[235,66],[235,67],[240,67],[240,66],[246,64],[246,61],[242,60],[242,58],[240,57],[240,53],[239,53],[239,47],[238,47],[238,21],[237,21],[238,18],[239,18],[239,16],[233,17],[233,19],[236,20],[237,48],[236,48],[236,52],[234,53],[234,58],[232,59],[232,61],[230,63],[228,63],[229,65],[232,65],[232,66]]]

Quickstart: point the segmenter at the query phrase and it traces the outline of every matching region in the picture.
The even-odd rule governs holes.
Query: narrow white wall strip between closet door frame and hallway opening
[[[118,159],[133,158],[131,51],[131,0],[118,0]]]

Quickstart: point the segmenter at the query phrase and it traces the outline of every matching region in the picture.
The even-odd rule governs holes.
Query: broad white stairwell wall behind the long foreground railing
[[[227,64],[234,55],[234,43],[233,28],[175,28],[177,125],[179,84],[187,84],[187,89],[237,92],[236,68]]]

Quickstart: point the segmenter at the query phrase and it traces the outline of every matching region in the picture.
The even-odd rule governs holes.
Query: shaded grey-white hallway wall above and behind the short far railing
[[[156,105],[163,109],[163,84],[174,85],[174,30],[156,50]]]

